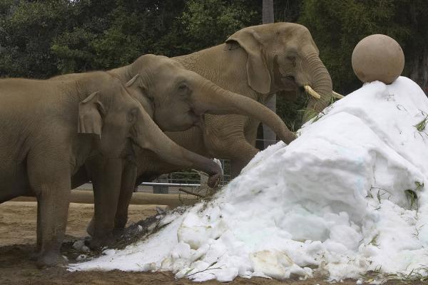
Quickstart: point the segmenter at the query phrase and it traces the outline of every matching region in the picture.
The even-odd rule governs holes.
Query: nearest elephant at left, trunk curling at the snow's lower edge
[[[40,267],[65,262],[59,249],[72,177],[93,157],[103,158],[97,165],[106,176],[138,147],[220,175],[215,162],[170,140],[130,92],[101,71],[56,81],[0,80],[0,203],[36,196]],[[120,185],[120,180],[113,182]]]

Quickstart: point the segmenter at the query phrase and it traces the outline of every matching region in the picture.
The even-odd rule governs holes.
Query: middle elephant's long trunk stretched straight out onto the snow
[[[287,144],[296,138],[278,115],[256,100],[220,88],[208,80],[200,91],[195,92],[200,94],[200,98],[195,98],[193,105],[201,113],[245,115],[268,125]]]

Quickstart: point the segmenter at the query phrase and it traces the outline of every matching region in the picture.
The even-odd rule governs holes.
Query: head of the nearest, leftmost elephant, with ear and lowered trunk
[[[208,185],[214,187],[221,175],[220,167],[206,157],[185,150],[168,138],[143,108],[130,95],[130,88],[118,78],[99,91],[91,93],[78,106],[78,133],[99,136],[99,150],[106,157],[122,157],[128,142],[155,152],[166,162],[194,167],[210,175]]]

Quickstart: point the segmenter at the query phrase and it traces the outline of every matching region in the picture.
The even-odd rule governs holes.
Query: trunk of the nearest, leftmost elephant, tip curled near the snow
[[[207,157],[190,152],[173,140],[150,118],[148,113],[139,108],[138,120],[131,132],[131,138],[139,147],[156,153],[165,162],[183,168],[194,168],[210,175],[208,185],[214,187],[221,176],[222,170],[217,163]]]

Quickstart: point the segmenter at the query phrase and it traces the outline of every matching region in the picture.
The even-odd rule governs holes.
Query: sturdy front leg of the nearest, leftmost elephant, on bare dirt
[[[39,267],[64,264],[60,248],[66,233],[71,192],[70,165],[29,159],[28,169],[31,187],[38,201],[37,264]]]

